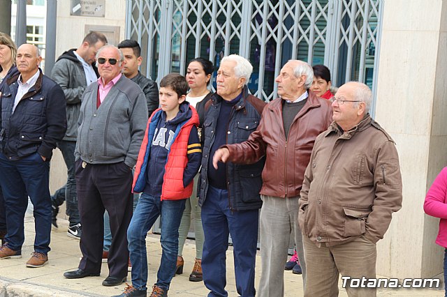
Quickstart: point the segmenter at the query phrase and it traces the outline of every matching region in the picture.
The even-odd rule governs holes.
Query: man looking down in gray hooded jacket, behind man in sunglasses
[[[98,70],[94,66],[95,55],[107,43],[103,33],[92,31],[82,40],[78,49],[68,50],[57,59],[51,76],[54,82],[64,90],[66,98],[67,132],[57,147],[61,150],[67,167],[67,182],[51,197],[52,224],[57,227],[56,215],[59,206],[66,201],[66,213],[70,224],[67,235],[81,238],[81,224],[78,210],[78,195],[75,181],[75,146],[78,139],[78,118],[81,97],[85,88],[98,79]]]

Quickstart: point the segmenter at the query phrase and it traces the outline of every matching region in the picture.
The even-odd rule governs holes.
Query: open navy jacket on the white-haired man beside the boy
[[[203,150],[202,168],[200,169],[200,182],[198,190],[198,204],[203,205],[207,197],[208,162],[212,160],[210,151],[214,143],[214,131],[221,109],[221,96],[214,93],[205,104],[205,119],[202,125]],[[231,117],[228,119],[227,144],[244,142],[261,121],[261,114],[265,102],[249,95],[247,86],[244,87],[242,98],[233,107]],[[258,209],[262,206],[259,191],[263,184],[261,172],[264,167],[264,158],[251,165],[239,165],[228,162],[226,180],[228,184],[228,204],[231,211],[247,211]]]

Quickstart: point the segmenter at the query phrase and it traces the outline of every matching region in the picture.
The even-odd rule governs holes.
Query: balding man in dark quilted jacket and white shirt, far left
[[[22,257],[28,197],[34,206],[36,237],[27,267],[48,261],[51,234],[50,159],[66,132],[61,87],[42,74],[34,45],[17,50],[19,76],[10,77],[0,97],[0,184],[6,205],[7,231],[0,259]]]

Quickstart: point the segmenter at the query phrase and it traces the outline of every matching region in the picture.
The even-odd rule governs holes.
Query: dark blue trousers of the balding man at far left
[[[49,187],[50,162],[34,153],[10,161],[0,153],[0,184],[6,206],[8,234],[5,242],[11,250],[21,250],[24,243],[24,215],[28,196],[34,206],[34,251],[50,251],[51,198]]]

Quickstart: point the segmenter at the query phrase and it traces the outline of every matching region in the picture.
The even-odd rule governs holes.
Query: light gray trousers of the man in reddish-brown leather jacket
[[[284,296],[284,265],[287,261],[291,233],[306,281],[306,264],[302,248],[302,235],[298,226],[299,197],[280,198],[261,195],[261,281],[258,296]]]

